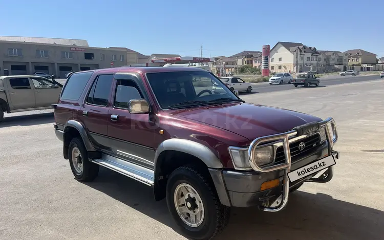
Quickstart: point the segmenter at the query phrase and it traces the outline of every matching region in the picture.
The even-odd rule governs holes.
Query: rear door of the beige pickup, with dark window
[[[10,78],[9,84],[11,110],[35,107],[35,90],[28,78]]]

